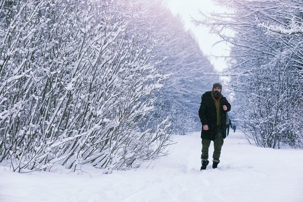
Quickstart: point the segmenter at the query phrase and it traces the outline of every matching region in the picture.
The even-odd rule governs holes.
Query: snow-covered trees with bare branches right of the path
[[[226,75],[247,139],[264,147],[303,147],[303,2],[216,1],[230,12],[197,23],[232,47]]]

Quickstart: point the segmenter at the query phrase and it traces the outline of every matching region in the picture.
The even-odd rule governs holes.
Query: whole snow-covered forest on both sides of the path
[[[216,2],[193,22],[230,45],[219,73],[164,0],[0,0],[0,163],[137,168],[201,130],[222,77],[247,140],[303,148],[302,0]]]

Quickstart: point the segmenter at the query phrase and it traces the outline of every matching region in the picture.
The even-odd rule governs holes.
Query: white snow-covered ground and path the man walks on
[[[218,169],[200,171],[199,136],[176,136],[171,155],[136,171],[19,174],[2,164],[0,202],[303,202],[303,150],[261,148],[231,132]]]

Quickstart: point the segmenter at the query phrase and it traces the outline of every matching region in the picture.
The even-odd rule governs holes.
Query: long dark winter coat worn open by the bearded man
[[[223,110],[223,105],[226,105],[226,111]],[[231,106],[228,103],[226,97],[222,96],[220,98],[221,124],[218,127],[221,128],[223,138],[226,138],[226,112],[230,111],[230,109]],[[214,140],[215,131],[217,128],[217,112],[211,91],[206,92],[201,96],[199,117],[202,123],[201,138],[207,140]],[[203,130],[203,125],[208,125],[209,130]]]

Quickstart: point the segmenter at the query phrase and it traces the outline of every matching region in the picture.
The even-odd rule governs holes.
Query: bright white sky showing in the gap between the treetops
[[[207,27],[198,26],[191,22],[191,16],[199,19],[199,10],[202,12],[225,12],[222,6],[215,5],[212,0],[167,0],[167,4],[174,15],[179,14],[185,24],[186,29],[190,29],[196,36],[199,46],[203,53],[207,55],[216,70],[220,71],[226,68],[224,58],[220,56],[227,56],[229,54],[229,47],[226,43],[221,42],[220,38],[210,33]],[[219,56],[214,57],[214,56]]]

